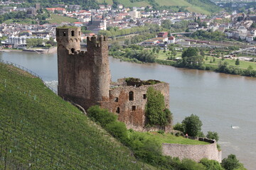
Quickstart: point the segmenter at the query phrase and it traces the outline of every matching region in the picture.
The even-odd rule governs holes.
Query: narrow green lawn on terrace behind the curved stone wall
[[[198,140],[190,140],[185,137],[176,137],[175,135],[171,134],[160,134],[158,132],[129,132],[129,135],[132,134],[140,134],[144,136],[146,139],[153,139],[162,143],[174,143],[174,144],[182,144],[182,145],[208,145],[208,142],[201,142]]]

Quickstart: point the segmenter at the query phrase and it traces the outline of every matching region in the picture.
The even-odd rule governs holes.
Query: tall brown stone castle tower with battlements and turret
[[[80,28],[56,28],[58,42],[58,95],[87,109],[109,101],[110,64],[107,38],[87,38],[80,51]]]

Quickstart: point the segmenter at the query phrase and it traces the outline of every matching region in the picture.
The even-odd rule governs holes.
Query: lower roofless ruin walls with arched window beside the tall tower
[[[110,101],[100,103],[102,108],[107,108],[112,113],[118,115],[118,120],[124,122],[127,128],[132,128],[137,131],[159,130],[161,128],[144,128],[146,122],[145,106],[146,106],[146,91],[149,86],[161,91],[164,95],[166,108],[169,108],[169,84],[159,83],[154,85],[144,86],[118,86],[110,89]],[[129,93],[133,93],[133,98]],[[132,100],[131,100],[132,99]]]

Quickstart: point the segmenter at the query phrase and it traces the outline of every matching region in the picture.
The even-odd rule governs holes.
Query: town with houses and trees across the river
[[[23,3],[18,1],[16,4]],[[140,45],[151,54],[152,51],[157,52],[158,54],[154,54],[151,58],[164,60],[159,62],[161,64],[170,64],[166,60],[181,63],[181,58],[184,57],[183,50],[187,47],[197,48],[198,54],[206,56],[201,60],[204,61],[204,66],[202,67],[201,62],[197,60],[199,66],[196,64],[196,67],[194,65],[191,67],[188,63],[176,64],[178,67],[216,70],[216,66],[221,62],[218,58],[255,62],[255,8],[247,8],[243,11],[239,11],[239,8],[238,11],[222,10],[206,15],[183,8],[178,11],[167,9],[156,11],[152,6],[125,7],[122,4],[115,6],[102,4],[88,10],[82,9],[80,5],[53,4],[54,8],[43,8],[41,4],[35,4],[28,8],[18,8],[16,4],[12,1],[1,1],[0,37],[1,49],[5,51],[55,52],[55,28],[75,26],[81,28],[82,46],[86,46],[87,36],[105,35],[111,40],[113,49],[119,49],[119,47],[115,48],[117,44],[128,48],[129,45]],[[127,55],[121,56],[120,52],[113,52],[113,49],[110,50],[110,55],[113,57],[122,57],[126,61],[128,61],[127,57],[131,58]],[[123,52],[124,50],[119,49]],[[156,61],[138,61],[138,58],[134,61]],[[229,62],[230,67],[238,65],[238,62],[233,61],[233,64]],[[251,69],[255,69],[255,63],[246,63],[241,69],[248,67],[250,70],[247,71],[251,72]],[[218,69],[224,72],[224,69]],[[236,69],[225,73],[252,77],[255,74],[255,72],[244,74]]]

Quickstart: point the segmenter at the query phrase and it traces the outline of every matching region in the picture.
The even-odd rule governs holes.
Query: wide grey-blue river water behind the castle
[[[56,88],[56,54],[0,52],[0,59],[31,69]],[[174,123],[192,113],[198,115],[205,134],[218,132],[223,158],[235,154],[247,169],[256,169],[256,78],[160,64],[119,62],[112,57],[110,69],[112,81],[138,77],[168,82]]]

